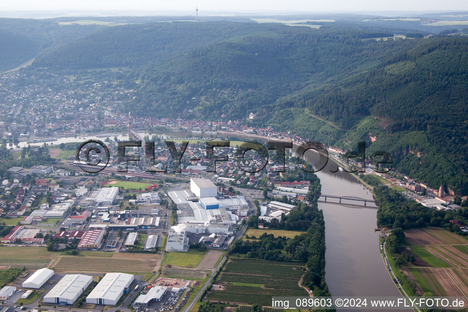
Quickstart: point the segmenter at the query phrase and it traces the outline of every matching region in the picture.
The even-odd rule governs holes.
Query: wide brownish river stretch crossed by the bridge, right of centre
[[[300,154],[296,149],[294,155]],[[317,168],[326,160],[311,151],[305,153],[304,159],[317,164]],[[337,171],[332,160],[316,174],[322,184],[322,194],[373,199],[372,193],[351,174]],[[338,199],[327,199],[331,201]],[[344,200],[342,203],[362,204]],[[373,203],[367,205],[375,207]],[[379,232],[374,232],[377,210],[329,203],[319,203],[318,208],[323,210],[325,219],[325,280],[332,296],[401,296],[380,255]]]

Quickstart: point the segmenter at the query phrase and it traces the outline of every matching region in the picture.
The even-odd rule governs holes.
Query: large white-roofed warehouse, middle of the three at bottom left
[[[44,296],[44,302],[73,305],[92,282],[93,276],[67,274]]]

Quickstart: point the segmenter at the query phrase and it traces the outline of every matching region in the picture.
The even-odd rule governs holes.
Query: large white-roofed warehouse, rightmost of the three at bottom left
[[[95,305],[116,305],[133,282],[133,275],[125,273],[107,273],[86,297],[86,303]]]

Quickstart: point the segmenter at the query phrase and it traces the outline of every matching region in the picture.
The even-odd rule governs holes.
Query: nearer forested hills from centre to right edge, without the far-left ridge
[[[466,36],[374,41],[362,40],[368,29],[262,30],[146,66],[139,105],[126,109],[174,116],[192,108],[211,120],[268,109],[272,114],[251,124],[344,149],[366,140],[369,153],[394,155],[400,172],[468,193]],[[235,98],[220,96],[229,88]],[[311,116],[335,128],[317,131],[323,122]]]

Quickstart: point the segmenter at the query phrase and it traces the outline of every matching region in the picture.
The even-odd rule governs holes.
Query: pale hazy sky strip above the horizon
[[[2,0],[0,10],[429,11],[468,10],[468,0]]]

